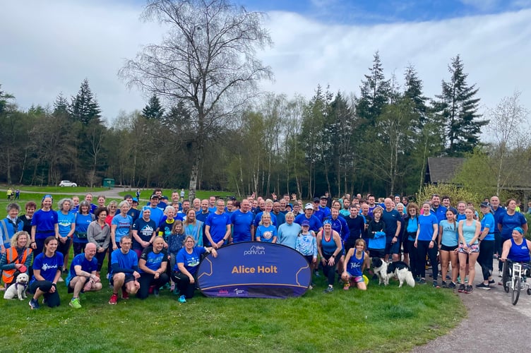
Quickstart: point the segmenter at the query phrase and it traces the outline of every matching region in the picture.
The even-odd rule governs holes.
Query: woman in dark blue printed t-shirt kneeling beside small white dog
[[[57,281],[61,277],[63,268],[63,254],[58,253],[56,237],[47,237],[43,241],[44,251],[33,261],[33,275],[30,280],[28,292],[33,293],[30,300],[32,310],[39,309],[39,297],[44,296],[43,304],[50,308],[59,306],[61,299],[57,292]]]

